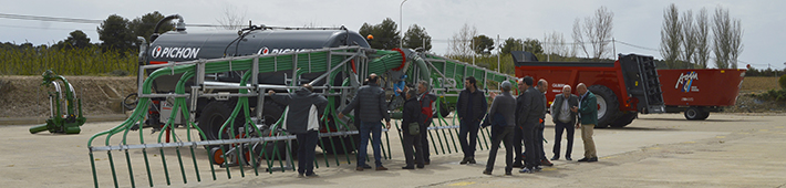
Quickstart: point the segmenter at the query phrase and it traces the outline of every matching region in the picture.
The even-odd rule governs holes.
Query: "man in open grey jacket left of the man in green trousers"
[[[573,95],[570,85],[562,86],[562,93],[554,97],[551,103],[551,121],[555,124],[555,140],[554,140],[554,157],[551,160],[559,159],[559,147],[562,142],[562,132],[568,130],[568,148],[565,152],[565,159],[572,160],[570,153],[573,150],[573,133],[576,133],[577,111],[579,106],[579,96]]]

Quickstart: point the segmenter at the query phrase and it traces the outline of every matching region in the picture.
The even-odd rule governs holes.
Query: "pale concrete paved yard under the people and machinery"
[[[297,178],[292,171],[254,176],[251,170],[246,171],[245,178],[232,175],[232,179],[227,179],[221,170],[218,180],[203,173],[201,182],[190,177],[188,184],[183,184],[177,166],[169,170],[172,187],[786,187],[784,122],[784,114],[712,114],[702,122],[685,121],[682,114],[641,115],[625,128],[596,130],[598,163],[556,160],[554,167],[541,173],[513,176],[503,175],[503,150],[493,176],[480,174],[487,150],[477,153],[476,165],[458,165],[462,155],[454,153],[433,156],[432,165],[425,169],[402,170],[401,145],[394,133],[390,134],[394,157],[383,161],[391,168],[387,171],[355,171],[354,164],[342,164],[318,168],[321,177],[312,179]],[[31,135],[29,126],[0,126],[2,187],[92,187],[86,140],[117,124],[90,123],[80,135]],[[545,136],[554,142],[554,127],[549,124]],[[546,144],[549,157],[551,146]],[[115,164],[125,163],[118,157],[123,153],[113,154]],[[573,158],[581,158],[582,154],[577,134]],[[108,157],[96,156],[100,184],[112,187]],[[176,161],[169,156],[167,160]],[[153,155],[151,158],[161,160]],[[204,158],[197,158],[205,164]],[[146,187],[145,168],[138,164],[142,160],[133,161],[134,173],[142,173],[136,176],[136,185]],[[205,169],[200,167],[200,171]],[[125,170],[118,168],[117,173],[127,174]],[[155,166],[152,170],[162,171]],[[166,186],[163,178],[154,180],[156,187]],[[127,176],[120,176],[118,182],[130,187]]]

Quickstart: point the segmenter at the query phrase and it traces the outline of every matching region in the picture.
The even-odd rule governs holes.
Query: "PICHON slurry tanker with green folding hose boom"
[[[158,34],[157,28],[174,19],[179,20],[176,29]],[[341,119],[338,112],[349,104],[371,73],[381,76],[391,112],[399,111],[402,105],[396,100],[394,86],[430,82],[430,91],[438,96],[434,104],[438,121],[434,121],[428,132],[432,153],[458,153],[457,142],[453,138],[453,134],[457,134],[457,122],[449,123],[444,117],[453,111],[458,92],[464,90],[463,80],[475,76],[480,90],[489,91],[496,90],[500,82],[514,79],[410,49],[371,49],[365,38],[343,27],[249,25],[239,31],[189,32],[183,18],[169,15],[156,25],[149,43],[143,43],[138,93],[133,94],[138,101],[131,117],[89,140],[96,187],[100,182],[94,154],[99,152],[107,152],[115,186],[118,181],[133,186],[135,177],[145,179],[149,186],[154,185],[153,179],[165,179],[167,185],[170,178],[184,182],[187,179],[200,181],[198,164],[205,161],[198,163],[195,153],[199,152],[207,153],[207,166],[214,180],[214,166],[225,168],[228,178],[232,176],[230,169],[234,168],[230,167],[238,167],[239,170],[232,171],[239,171],[240,176],[245,176],[244,168],[254,168],[255,174],[260,168],[269,173],[291,169],[297,142],[293,135],[280,128],[280,117],[287,107],[275,103],[267,91],[287,93],[306,83],[313,86],[314,93],[329,100],[328,108],[320,117],[322,126],[318,145],[322,153],[318,155],[324,157],[325,166],[330,166],[329,160],[341,165],[340,158],[351,164],[353,155],[349,154],[355,152],[359,142],[358,125],[351,114]],[[139,127],[161,132],[153,139],[142,130],[131,132]],[[391,158],[390,143],[383,143],[383,147],[387,149],[385,158]],[[138,152],[131,155],[128,150],[141,150],[141,155]],[[114,157],[118,160],[115,161],[113,152],[124,152],[125,161],[123,157]],[[166,158],[175,153],[176,160]],[[164,176],[159,171],[152,175],[152,169],[157,170],[151,167],[152,156],[161,157]],[[132,160],[144,161],[147,176],[134,176]],[[167,163],[179,164],[179,168],[169,169]],[[117,180],[115,164],[127,164],[128,180]],[[187,171],[196,173],[196,177]],[[182,176],[169,177],[170,174]]]

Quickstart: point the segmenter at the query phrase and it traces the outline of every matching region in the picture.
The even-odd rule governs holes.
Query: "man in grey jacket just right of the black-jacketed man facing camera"
[[[513,133],[516,124],[516,98],[510,94],[511,87],[513,84],[510,82],[503,82],[503,93],[494,97],[492,108],[486,117],[493,124],[492,135],[494,136],[492,137],[494,140],[492,142],[492,150],[488,153],[486,169],[483,170],[485,175],[492,175],[492,170],[494,170],[494,160],[497,159],[499,143],[505,143],[505,175],[511,175],[510,171],[513,171]]]

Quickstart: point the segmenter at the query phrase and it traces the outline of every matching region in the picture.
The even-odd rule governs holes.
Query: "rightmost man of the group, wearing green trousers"
[[[587,90],[585,83],[579,83],[576,91],[581,96],[578,108],[579,123],[576,124],[576,128],[581,128],[581,140],[585,143],[585,158],[579,161],[598,161],[594,140],[592,140],[592,129],[598,124],[598,101],[594,94]]]

